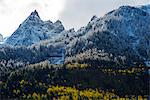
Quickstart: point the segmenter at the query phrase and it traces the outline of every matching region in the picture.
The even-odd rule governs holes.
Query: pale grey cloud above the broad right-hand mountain
[[[66,28],[80,28],[93,15],[103,16],[121,5],[142,5],[150,0],[66,0],[65,8],[59,15]]]

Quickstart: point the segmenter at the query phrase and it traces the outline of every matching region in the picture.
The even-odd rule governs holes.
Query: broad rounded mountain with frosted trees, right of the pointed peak
[[[94,16],[77,32],[81,36],[67,46],[66,62],[94,59],[132,66],[150,59],[150,14],[141,8],[121,6]]]

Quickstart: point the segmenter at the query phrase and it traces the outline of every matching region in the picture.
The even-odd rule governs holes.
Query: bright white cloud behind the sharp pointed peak
[[[35,9],[43,20],[55,21],[65,0],[0,0],[0,33],[9,36]]]

